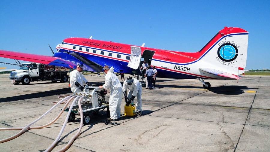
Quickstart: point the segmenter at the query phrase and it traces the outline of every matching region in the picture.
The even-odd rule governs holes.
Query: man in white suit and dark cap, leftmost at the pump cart
[[[83,64],[77,64],[76,70],[70,72],[69,83],[70,89],[72,92],[75,91],[76,88],[80,88],[82,91],[84,89],[83,83],[87,84],[88,86],[92,86],[90,82],[86,80],[86,78],[81,74],[83,70]]]

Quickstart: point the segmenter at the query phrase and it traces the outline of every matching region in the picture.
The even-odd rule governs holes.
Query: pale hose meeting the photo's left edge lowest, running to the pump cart
[[[17,138],[19,137],[26,129],[28,129],[31,125],[33,125],[34,123],[36,123],[38,120],[40,120],[41,118],[43,118],[44,116],[46,116],[50,111],[52,111],[52,109],[54,109],[57,105],[59,105],[61,102],[63,102],[64,100],[66,100],[67,98],[70,98],[71,96],[73,95],[70,95],[70,96],[67,96],[65,97],[64,99],[62,99],[61,101],[59,101],[57,104],[55,104],[52,108],[50,108],[45,114],[43,114],[42,116],[40,116],[38,119],[36,119],[35,121],[33,121],[32,123],[29,123],[27,126],[25,126],[20,132],[18,132],[17,134],[11,136],[11,137],[8,137],[8,138],[5,138],[5,139],[2,139],[0,140],[0,143],[3,143],[3,142],[6,142],[6,141],[10,141],[14,138]],[[76,98],[75,98],[76,99]]]

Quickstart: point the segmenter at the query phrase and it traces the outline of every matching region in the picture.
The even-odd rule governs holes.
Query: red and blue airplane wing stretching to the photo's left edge
[[[0,50],[0,57],[29,62],[37,62],[47,65],[56,65],[66,68],[76,68],[77,63],[85,63],[77,59],[76,57],[69,55],[68,53],[66,53],[65,58],[62,58],[62,57],[35,55],[30,53],[20,53],[20,52]],[[95,65],[94,62],[88,61],[88,63],[85,63],[83,65],[83,70],[101,72],[102,67]]]

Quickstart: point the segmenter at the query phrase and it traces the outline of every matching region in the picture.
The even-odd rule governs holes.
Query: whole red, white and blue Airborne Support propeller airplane
[[[53,56],[0,50],[0,57],[103,72],[105,65],[117,73],[139,74],[143,60],[155,65],[160,78],[198,79],[203,88],[211,84],[205,79],[240,79],[247,62],[248,32],[237,27],[224,27],[201,50],[179,52],[115,43],[90,38],[66,38],[56,46]],[[53,52],[53,51],[52,51]]]

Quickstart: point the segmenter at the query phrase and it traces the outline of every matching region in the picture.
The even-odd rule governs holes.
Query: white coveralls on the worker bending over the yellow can
[[[130,99],[132,96],[137,97],[136,109],[137,111],[142,112],[142,84],[140,81],[133,78],[133,83],[129,86],[127,80],[125,80],[123,84],[123,92],[127,90],[129,90],[128,99]],[[131,103],[134,104],[134,100]]]

